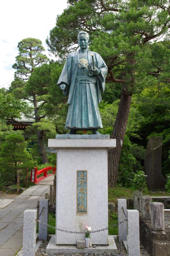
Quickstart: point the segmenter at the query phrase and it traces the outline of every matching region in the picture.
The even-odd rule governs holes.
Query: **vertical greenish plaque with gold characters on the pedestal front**
[[[77,171],[77,213],[87,212],[87,171]]]

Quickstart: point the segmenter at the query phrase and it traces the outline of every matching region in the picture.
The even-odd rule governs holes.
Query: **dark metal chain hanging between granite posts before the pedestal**
[[[122,207],[122,208],[123,208],[123,207]],[[43,209],[42,209],[42,211],[43,211]],[[125,214],[125,210],[124,210],[124,209],[123,209],[123,212],[124,212],[124,214]],[[40,215],[39,215],[39,217],[36,219],[36,221],[42,223],[43,225],[45,225],[45,226],[47,226],[47,227],[49,227],[49,228],[53,228],[53,229],[55,229],[55,230],[58,230],[58,231],[61,231],[61,232],[65,232],[65,233],[70,233],[70,234],[85,234],[85,233],[86,233],[86,231],[84,231],[84,232],[80,232],[80,231],[77,232],[77,231],[68,231],[68,230],[63,230],[63,229],[60,229],[60,228],[55,228],[54,226],[51,226],[51,225],[49,225],[49,224],[47,224],[47,223],[44,223],[44,222],[42,222],[41,220],[39,220],[41,214],[42,214],[42,212],[40,213]],[[114,225],[109,226],[109,227],[107,227],[107,228],[102,228],[102,229],[90,231],[89,233],[101,232],[101,231],[104,231],[104,230],[108,230],[109,228],[113,228],[113,227],[115,227],[115,226],[118,226],[118,225],[120,225],[121,223],[123,223],[124,221],[127,221],[127,216],[126,216],[126,214],[125,214],[125,217],[126,217],[125,220],[122,220],[122,221],[120,221],[120,222],[117,223],[117,224],[114,224]]]

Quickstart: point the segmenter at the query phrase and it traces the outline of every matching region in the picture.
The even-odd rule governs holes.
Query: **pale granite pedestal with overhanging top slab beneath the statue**
[[[82,135],[83,136],[83,135]],[[57,138],[48,146],[57,152],[56,227],[68,231],[108,226],[107,150],[116,146],[109,138]],[[77,171],[87,171],[87,212],[77,213]],[[76,245],[85,234],[56,232],[56,245]],[[107,245],[108,230],[91,234],[92,244]]]

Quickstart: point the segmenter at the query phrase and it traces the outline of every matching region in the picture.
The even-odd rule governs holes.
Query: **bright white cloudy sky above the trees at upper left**
[[[22,39],[40,39],[49,57],[45,39],[65,8],[67,0],[0,1],[0,88],[9,88],[14,80],[12,65]]]

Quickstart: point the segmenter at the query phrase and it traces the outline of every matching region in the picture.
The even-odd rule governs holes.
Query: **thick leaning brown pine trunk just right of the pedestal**
[[[117,183],[117,173],[119,168],[119,159],[122,150],[122,142],[125,137],[128,114],[130,111],[131,95],[121,92],[121,100],[115,120],[115,126],[111,134],[112,139],[117,140],[116,148],[108,150],[108,186],[115,186]]]

